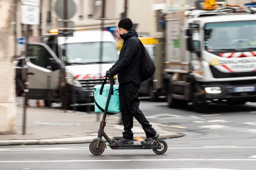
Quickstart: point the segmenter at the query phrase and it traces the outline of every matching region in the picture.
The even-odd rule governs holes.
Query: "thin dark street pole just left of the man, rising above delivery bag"
[[[101,47],[100,47],[100,51],[99,51],[99,61],[100,63],[102,62],[102,55],[103,55],[103,35],[104,35],[104,20],[105,20],[105,0],[102,0],[102,14],[101,14]],[[102,73],[102,68],[101,68],[101,64],[99,66],[99,74],[101,77],[101,73]],[[97,113],[97,120],[99,121],[99,113]]]

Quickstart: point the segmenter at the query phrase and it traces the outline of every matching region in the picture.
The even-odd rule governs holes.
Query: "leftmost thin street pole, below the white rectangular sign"
[[[28,52],[28,39],[29,39],[29,25],[25,25],[25,40],[26,40],[26,54],[25,54],[25,64],[23,65],[23,70],[24,70],[24,75],[25,75],[25,81],[24,81],[24,93],[25,93],[25,96],[24,96],[24,106],[23,106],[23,126],[22,126],[22,134],[26,134],[26,111],[27,111],[27,92],[28,92],[28,89],[27,89],[27,69],[28,69],[28,66],[27,66],[27,59],[28,59],[28,55],[29,55],[29,52]]]

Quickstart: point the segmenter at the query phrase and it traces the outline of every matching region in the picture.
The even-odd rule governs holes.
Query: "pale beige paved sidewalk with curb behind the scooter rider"
[[[59,109],[29,107],[27,109],[26,134],[22,135],[23,107],[18,106],[16,134],[0,135],[0,146],[20,144],[70,144],[90,143],[98,135],[99,123],[96,114]],[[119,117],[107,116],[105,132],[111,140],[122,136],[123,126],[118,125]],[[181,137],[183,134],[163,130],[152,123],[160,133],[159,139]],[[145,133],[134,119],[134,140],[144,140]],[[104,139],[104,138],[103,138]],[[104,139],[105,140],[105,139]]]

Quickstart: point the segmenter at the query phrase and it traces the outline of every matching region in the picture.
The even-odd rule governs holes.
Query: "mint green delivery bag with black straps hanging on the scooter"
[[[108,93],[110,90],[110,84],[106,84],[107,78],[104,80],[102,85],[94,86],[94,108],[95,112],[103,113],[106,107],[106,101],[108,99]],[[111,93],[108,112],[107,114],[113,115],[120,113],[120,101],[119,101],[119,85],[114,84]]]

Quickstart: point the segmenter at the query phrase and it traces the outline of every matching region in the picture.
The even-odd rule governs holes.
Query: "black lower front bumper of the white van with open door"
[[[94,103],[93,91],[85,91],[81,87],[68,84],[68,101],[70,104]]]

